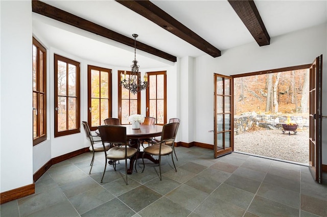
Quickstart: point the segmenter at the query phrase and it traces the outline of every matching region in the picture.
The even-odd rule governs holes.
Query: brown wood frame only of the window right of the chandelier
[[[156,124],[163,125],[163,124],[167,123],[167,71],[156,71],[156,72],[147,72],[147,73],[148,73],[148,82],[149,82],[149,87],[146,90],[146,106],[147,106],[146,115],[147,116],[150,116],[150,86],[151,86],[150,76],[164,75],[164,98],[163,98],[163,100],[164,100],[164,123],[162,123],[162,124],[158,123],[157,117],[154,117],[156,119],[155,120]],[[151,99],[151,100],[158,101],[158,100],[162,100],[162,99],[157,98],[157,94],[156,94],[156,98]],[[157,114],[157,111],[156,111],[156,114]]]

